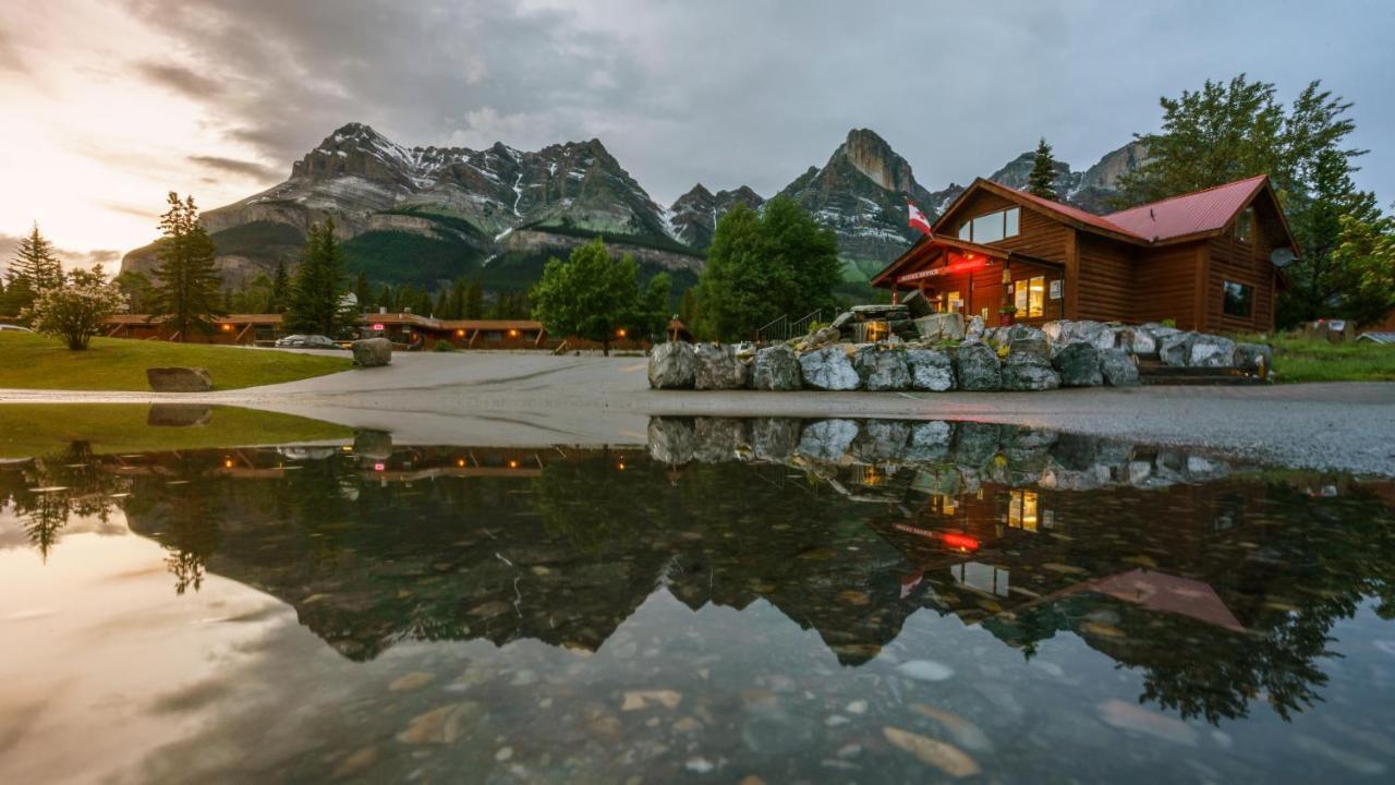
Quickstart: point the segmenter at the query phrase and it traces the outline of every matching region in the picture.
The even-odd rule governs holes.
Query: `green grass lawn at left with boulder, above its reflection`
[[[300,355],[241,346],[93,338],[85,352],[32,332],[0,332],[0,388],[149,390],[145,369],[206,367],[216,390],[296,381],[349,370],[346,355]]]

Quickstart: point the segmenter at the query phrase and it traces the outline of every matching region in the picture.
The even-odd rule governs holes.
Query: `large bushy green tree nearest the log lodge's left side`
[[[717,222],[707,249],[695,292],[696,328],[735,341],[780,316],[831,313],[841,282],[837,236],[794,200],[776,197],[759,215],[738,204]]]

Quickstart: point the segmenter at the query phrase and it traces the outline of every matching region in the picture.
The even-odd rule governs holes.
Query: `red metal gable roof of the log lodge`
[[[1120,210],[1108,215],[1095,215],[1069,204],[1032,196],[1027,191],[1018,191],[1017,189],[978,177],[944,210],[935,222],[935,230],[936,233],[942,230],[940,223],[954,212],[970,193],[982,189],[1021,205],[1053,214],[1057,219],[1071,223],[1078,229],[1151,246],[1225,229],[1230,219],[1235,218],[1235,214],[1249,205],[1256,194],[1265,189],[1272,191],[1268,183],[1269,177],[1267,175],[1258,175],[1223,186],[1140,204],[1138,207]],[[1279,210],[1279,217],[1285,232],[1288,232],[1288,221],[1283,218],[1282,210]]]

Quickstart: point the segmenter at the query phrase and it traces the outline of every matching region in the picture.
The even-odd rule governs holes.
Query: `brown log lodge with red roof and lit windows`
[[[1108,215],[976,179],[872,284],[988,327],[1170,318],[1268,331],[1296,250],[1267,176]]]

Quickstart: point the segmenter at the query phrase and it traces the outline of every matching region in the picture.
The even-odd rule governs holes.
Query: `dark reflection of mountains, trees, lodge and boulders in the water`
[[[1141,668],[1145,697],[1216,719],[1315,700],[1332,623],[1367,596],[1395,609],[1387,486],[953,423],[656,420],[649,453],[92,458],[49,503],[120,504],[176,588],[206,570],[266,591],[352,659],[596,650],[665,587],[693,609],[764,599],[845,665],[921,609],[1028,656],[1071,631]],[[0,471],[0,501],[36,508],[59,471]]]

